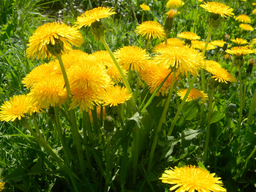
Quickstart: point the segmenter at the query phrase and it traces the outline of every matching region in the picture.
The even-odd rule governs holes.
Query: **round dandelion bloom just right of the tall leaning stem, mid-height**
[[[131,67],[131,70],[137,71],[144,67],[146,60],[151,58],[145,49],[136,46],[124,46],[114,52],[114,55],[119,65],[123,65],[123,69],[128,70]]]

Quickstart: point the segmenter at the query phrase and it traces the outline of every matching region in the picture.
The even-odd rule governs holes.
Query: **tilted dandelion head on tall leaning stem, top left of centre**
[[[81,16],[76,18],[78,28],[91,26],[93,22],[100,21],[102,18],[108,18],[110,15],[116,14],[114,9],[108,7],[97,7],[92,10],[84,12]]]

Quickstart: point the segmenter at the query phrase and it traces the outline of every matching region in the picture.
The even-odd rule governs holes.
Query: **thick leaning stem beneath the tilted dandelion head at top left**
[[[103,37],[102,35],[100,35],[100,40],[101,40],[101,42],[104,44],[104,46],[105,46],[105,48],[107,49],[107,51],[108,51],[108,53],[109,53],[111,59],[112,59],[113,62],[115,63],[116,68],[117,68],[118,72],[120,73],[120,75],[121,75],[121,77],[122,77],[122,79],[123,79],[124,85],[125,85],[125,87],[126,87],[128,93],[132,93],[131,87],[130,87],[130,85],[129,85],[129,83],[128,83],[128,81],[127,81],[127,79],[126,79],[126,77],[125,77],[125,75],[124,75],[124,73],[123,73],[123,71],[122,71],[120,65],[118,64],[118,62],[117,62],[115,56],[113,55],[112,51],[110,50],[110,48],[109,48],[107,42],[105,41],[105,39],[104,39],[104,37]],[[131,104],[132,104],[133,114],[135,114],[136,111],[137,111],[137,108],[136,108],[136,104],[135,104],[135,102],[134,102],[133,96],[131,97],[130,101],[131,101]]]

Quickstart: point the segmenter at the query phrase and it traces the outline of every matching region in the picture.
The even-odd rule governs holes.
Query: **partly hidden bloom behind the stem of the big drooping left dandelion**
[[[61,59],[63,61],[63,65],[67,71],[68,68],[70,66],[72,66],[73,64],[80,62],[82,60],[90,60],[91,58],[85,52],[82,52],[80,50],[71,50],[71,51],[68,51],[65,54],[61,55]],[[57,61],[55,63],[54,69],[56,70],[56,73],[62,74],[59,61]]]

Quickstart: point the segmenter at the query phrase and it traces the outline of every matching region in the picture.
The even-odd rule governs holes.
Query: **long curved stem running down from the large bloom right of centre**
[[[152,169],[152,161],[153,161],[153,156],[154,156],[154,153],[155,153],[156,144],[157,144],[157,140],[158,140],[158,132],[161,131],[161,127],[162,127],[162,124],[164,122],[167,109],[169,108],[169,104],[170,104],[170,101],[172,99],[172,92],[173,92],[174,83],[175,83],[175,76],[176,76],[176,70],[174,70],[174,72],[172,74],[172,84],[171,84],[171,88],[170,88],[170,91],[169,91],[169,95],[168,95],[168,98],[167,98],[167,100],[165,102],[164,111],[163,111],[162,116],[161,116],[161,118],[159,120],[157,129],[156,129],[156,134],[155,134],[154,142],[153,142],[153,145],[151,147],[151,151],[150,151],[150,155],[149,155],[149,161],[148,161],[148,174],[150,173],[150,171]]]

